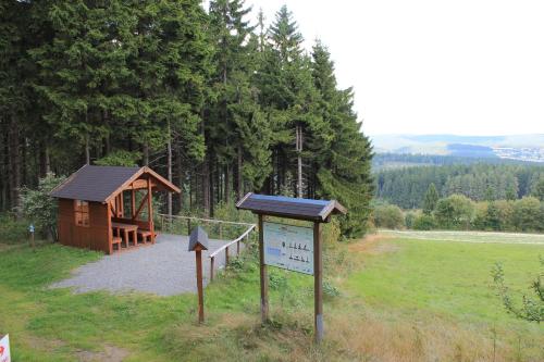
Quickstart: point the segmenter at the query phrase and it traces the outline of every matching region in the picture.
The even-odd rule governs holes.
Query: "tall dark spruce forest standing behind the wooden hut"
[[[212,216],[247,191],[337,199],[343,232],[362,234],[372,148],[353,89],[338,87],[325,45],[305,49],[286,7],[270,22],[252,11],[1,1],[0,211],[48,173],[149,165],[183,190],[164,212]]]

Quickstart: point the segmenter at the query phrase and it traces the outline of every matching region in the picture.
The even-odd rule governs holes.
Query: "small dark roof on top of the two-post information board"
[[[329,215],[346,213],[346,209],[336,200],[312,200],[247,194],[236,208],[250,210],[256,214],[285,216],[299,220],[324,222]]]

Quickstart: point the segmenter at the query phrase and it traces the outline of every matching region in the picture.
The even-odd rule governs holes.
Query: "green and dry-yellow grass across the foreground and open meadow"
[[[460,236],[459,236],[460,237]],[[470,240],[469,240],[470,241]],[[47,286],[95,252],[2,251],[0,332],[15,361],[543,361],[544,326],[508,315],[491,269],[521,298],[541,245],[371,236],[325,250],[325,342],[312,344],[312,278],[272,270],[272,322],[259,323],[255,258],[195,297],[74,295]],[[339,296],[334,297],[335,289]]]

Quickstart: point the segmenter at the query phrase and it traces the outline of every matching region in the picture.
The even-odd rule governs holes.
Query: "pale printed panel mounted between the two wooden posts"
[[[313,229],[263,222],[264,264],[313,275]]]

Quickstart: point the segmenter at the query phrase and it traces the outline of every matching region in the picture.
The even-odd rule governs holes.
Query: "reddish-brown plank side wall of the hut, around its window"
[[[62,245],[110,251],[107,204],[89,202],[89,226],[75,224],[74,200],[59,200],[59,241]]]

